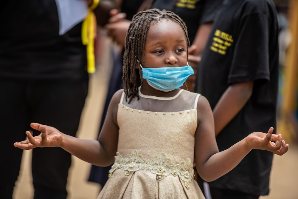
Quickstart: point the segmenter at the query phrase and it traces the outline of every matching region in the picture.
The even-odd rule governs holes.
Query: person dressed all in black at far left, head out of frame
[[[0,190],[1,198],[9,199],[23,152],[13,143],[26,138],[31,122],[47,123],[75,136],[89,75],[82,22],[60,36],[55,0],[5,1],[0,16],[0,126],[5,140]],[[65,199],[70,165],[71,155],[63,149],[33,149],[34,198]]]

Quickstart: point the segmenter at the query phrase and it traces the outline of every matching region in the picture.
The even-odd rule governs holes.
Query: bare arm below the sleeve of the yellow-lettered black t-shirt
[[[213,109],[215,136],[238,114],[252,95],[254,82],[230,85]]]

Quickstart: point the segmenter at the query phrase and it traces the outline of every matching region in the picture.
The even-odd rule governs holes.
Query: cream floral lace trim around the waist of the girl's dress
[[[117,152],[115,163],[109,171],[109,177],[116,169],[124,169],[125,175],[140,169],[144,171],[150,170],[150,172],[156,174],[156,179],[158,180],[162,180],[168,175],[179,176],[187,188],[189,188],[189,183],[195,176],[193,163],[190,161],[190,158],[187,158],[186,161],[182,161],[180,164],[175,164],[171,158],[167,158],[165,153],[161,153],[159,156],[153,156],[152,159],[146,160],[141,154],[138,154],[137,150],[127,154],[127,158],[122,158],[120,153]]]

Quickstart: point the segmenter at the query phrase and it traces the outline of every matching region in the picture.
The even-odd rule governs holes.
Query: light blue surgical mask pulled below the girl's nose
[[[169,92],[180,88],[186,79],[194,74],[193,68],[188,65],[183,67],[143,68],[143,79],[156,90]]]

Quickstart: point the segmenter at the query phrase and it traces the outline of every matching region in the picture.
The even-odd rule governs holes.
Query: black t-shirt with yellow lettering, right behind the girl
[[[254,88],[243,109],[218,135],[220,151],[251,132],[276,127],[278,53],[277,13],[271,0],[224,1],[198,67],[196,92],[213,109],[229,85],[254,81]],[[272,156],[252,150],[235,169],[209,184],[267,195]]]

